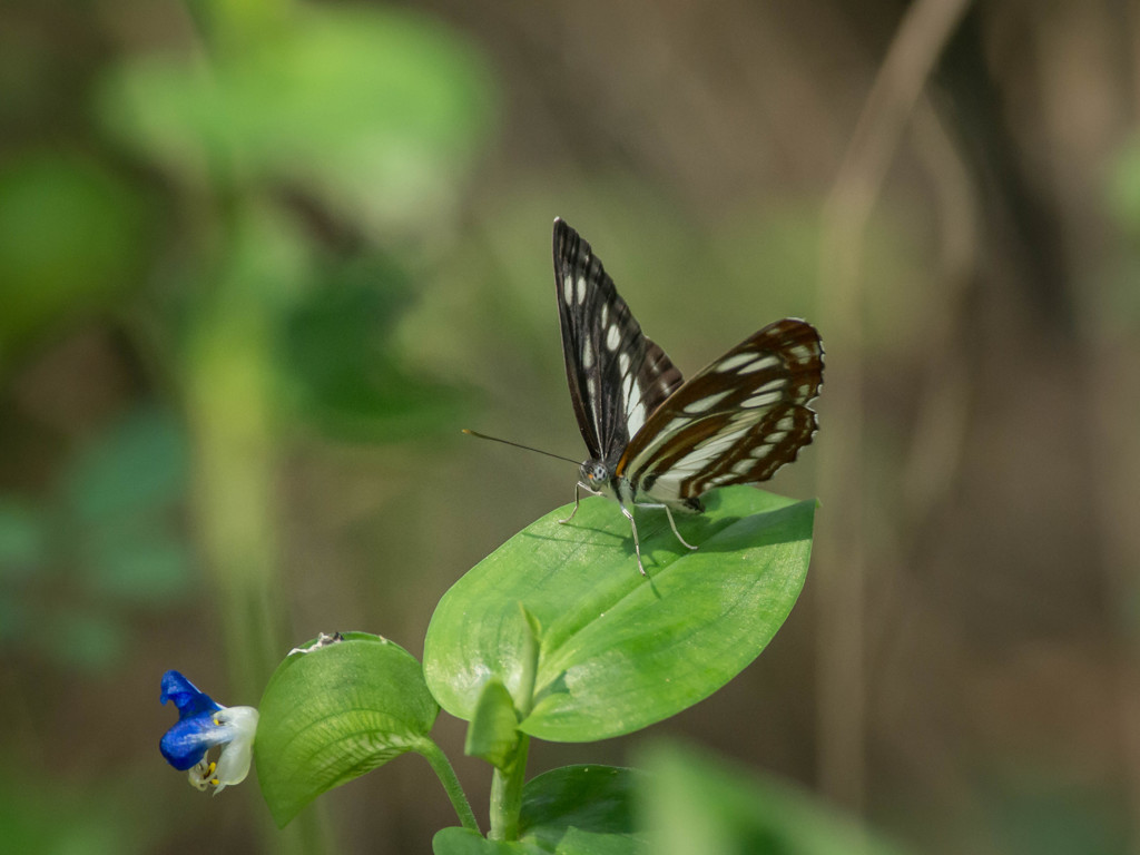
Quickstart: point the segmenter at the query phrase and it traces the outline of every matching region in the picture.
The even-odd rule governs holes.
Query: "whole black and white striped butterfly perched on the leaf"
[[[554,280],[567,381],[589,458],[575,488],[630,506],[700,513],[715,488],[765,481],[819,427],[807,405],[823,382],[823,345],[811,324],[784,318],[750,335],[703,370],[681,372],[645,337],[589,244],[554,221]]]

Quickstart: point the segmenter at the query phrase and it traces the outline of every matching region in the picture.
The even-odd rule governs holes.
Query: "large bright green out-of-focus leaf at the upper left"
[[[148,56],[108,75],[108,129],[197,185],[279,185],[377,235],[454,204],[489,129],[479,55],[396,9],[296,5],[205,64]]]

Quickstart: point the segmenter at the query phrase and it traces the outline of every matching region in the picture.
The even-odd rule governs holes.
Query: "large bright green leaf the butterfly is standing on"
[[[668,718],[723,686],[775,635],[799,596],[814,502],[751,487],[709,496],[678,521],[638,511],[650,579],[637,572],[629,526],[589,498],[547,514],[481,561],[440,601],[424,642],[424,674],[440,705],[470,720],[498,677],[522,703],[530,629],[543,626],[535,706],[519,728],[581,742]]]

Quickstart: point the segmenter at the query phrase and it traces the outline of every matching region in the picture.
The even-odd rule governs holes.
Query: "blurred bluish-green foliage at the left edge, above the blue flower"
[[[0,496],[0,640],[80,670],[120,665],[137,641],[123,616],[189,591],[186,465],[181,426],[142,407],[76,450],[46,499]]]

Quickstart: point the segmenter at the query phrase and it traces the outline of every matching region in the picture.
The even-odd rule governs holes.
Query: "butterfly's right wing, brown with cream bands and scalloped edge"
[[[807,405],[822,381],[815,328],[795,318],[769,324],[669,396],[616,474],[661,502],[765,481],[812,441],[817,422]]]

